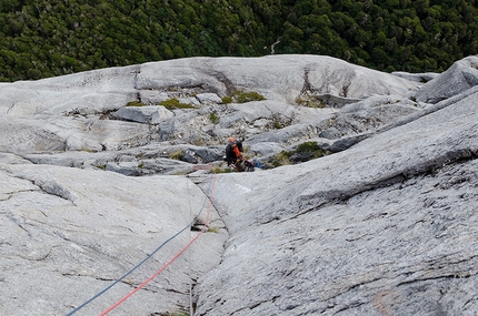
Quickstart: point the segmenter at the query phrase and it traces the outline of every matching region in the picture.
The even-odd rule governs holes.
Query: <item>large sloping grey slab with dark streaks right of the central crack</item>
[[[219,177],[231,235],[195,315],[472,315],[477,101],[266,177]]]

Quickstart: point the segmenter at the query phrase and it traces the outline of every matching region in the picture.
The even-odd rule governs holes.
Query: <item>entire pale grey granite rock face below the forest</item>
[[[155,274],[112,314],[475,315],[475,63],[192,58],[1,83],[0,315],[99,315]],[[212,174],[230,135],[266,165],[326,154]]]

